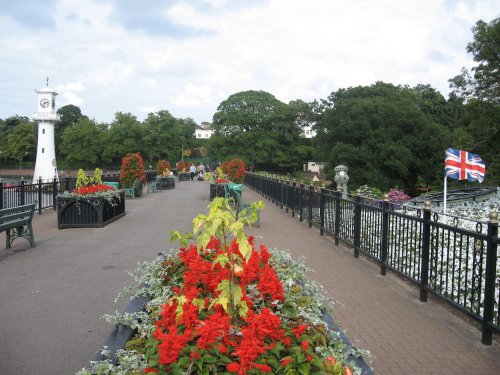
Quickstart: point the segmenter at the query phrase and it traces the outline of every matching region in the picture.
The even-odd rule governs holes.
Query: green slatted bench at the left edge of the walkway
[[[26,238],[31,247],[35,247],[35,236],[31,221],[37,201],[23,206],[4,208],[0,210],[0,233],[6,234],[6,247],[10,249],[12,242],[16,238]]]

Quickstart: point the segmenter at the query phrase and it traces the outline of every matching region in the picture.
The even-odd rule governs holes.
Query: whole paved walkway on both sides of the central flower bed
[[[24,240],[6,252],[0,234],[0,374],[71,374],[88,364],[111,327],[101,318],[122,311],[114,298],[125,272],[173,247],[168,230],[191,229],[208,205],[208,185],[181,182],[174,190],[127,200],[126,216],[102,229],[57,229],[54,211],[35,215],[35,249]],[[245,201],[261,199],[246,188]],[[334,317],[351,341],[370,350],[377,374],[497,374],[498,344],[440,303],[420,303],[418,290],[374,263],[354,259],[266,202],[257,243],[306,256],[311,278],[338,301]],[[177,247],[177,246],[175,246]]]

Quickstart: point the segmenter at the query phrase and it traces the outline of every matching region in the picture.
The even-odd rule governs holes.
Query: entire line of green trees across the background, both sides
[[[220,103],[208,141],[193,138],[192,119],[166,110],[142,122],[119,112],[110,124],[99,124],[68,105],[58,111],[56,154],[82,166],[117,165],[129,152],[174,160],[182,148],[206,146],[212,160],[241,158],[257,170],[291,172],[306,161],[324,161],[331,180],[333,168],[344,164],[352,188],[368,184],[415,194],[417,187],[442,188],[444,152],[453,147],[479,154],[486,183],[499,184],[499,19],[478,21],[466,49],[477,66],[449,80],[448,99],[430,85],[384,82],[342,88],[312,103],[287,104],[265,91],[243,91]],[[302,135],[311,125],[314,140]],[[35,124],[19,116],[0,120],[0,151],[2,161],[34,160]]]

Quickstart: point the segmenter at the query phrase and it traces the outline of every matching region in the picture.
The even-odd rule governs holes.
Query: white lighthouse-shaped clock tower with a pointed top
[[[39,178],[42,178],[43,181],[58,178],[54,125],[60,119],[56,112],[57,93],[49,87],[49,78],[47,77],[46,87],[35,91],[38,110],[33,115],[33,120],[38,122],[38,146],[33,183],[36,183]]]

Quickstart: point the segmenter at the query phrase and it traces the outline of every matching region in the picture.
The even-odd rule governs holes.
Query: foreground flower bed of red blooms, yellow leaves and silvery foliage
[[[262,209],[252,204],[252,212]],[[124,290],[147,296],[144,312],[108,316],[137,329],[117,364],[89,373],[351,374],[352,348],[322,320],[328,300],[284,251],[256,249],[225,199],[215,199],[178,251],[160,254]],[[195,243],[188,243],[196,238]]]

